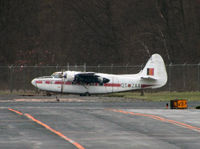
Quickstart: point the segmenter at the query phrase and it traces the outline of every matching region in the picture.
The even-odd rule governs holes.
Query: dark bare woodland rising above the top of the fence
[[[199,0],[0,0],[0,65],[199,63]]]

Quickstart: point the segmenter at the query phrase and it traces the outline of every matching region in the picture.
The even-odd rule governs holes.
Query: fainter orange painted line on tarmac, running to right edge
[[[128,111],[124,111],[124,110],[117,110],[117,109],[108,109],[108,110],[113,111],[113,112],[123,113],[123,114],[134,115],[134,116],[149,117],[149,118],[161,121],[161,122],[171,123],[171,124],[183,127],[183,128],[187,128],[187,129],[190,129],[190,130],[193,130],[193,131],[200,132],[199,127],[195,127],[195,126],[192,126],[192,125],[188,125],[188,124],[185,124],[185,123],[182,123],[182,122],[170,120],[170,119],[163,118],[163,117],[156,116],[156,115],[152,115],[152,114],[134,113],[134,112],[128,112]]]

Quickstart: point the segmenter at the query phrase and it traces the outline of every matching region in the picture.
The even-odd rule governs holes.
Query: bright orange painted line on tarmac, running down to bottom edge
[[[43,123],[43,122],[37,120],[36,118],[34,118],[33,116],[31,116],[30,114],[27,114],[27,113],[23,114],[23,113],[21,113],[21,112],[19,112],[19,111],[17,111],[17,110],[11,109],[11,108],[8,108],[8,110],[10,110],[10,111],[12,111],[12,112],[15,112],[15,113],[17,113],[17,114],[19,114],[19,115],[21,115],[21,116],[23,116],[23,115],[26,116],[27,118],[31,119],[32,121],[34,121],[34,122],[36,122],[37,124],[39,124],[39,125],[43,126],[44,128],[46,128],[47,130],[49,130],[49,131],[55,133],[55,134],[58,135],[59,137],[63,138],[64,140],[66,140],[66,141],[68,141],[68,142],[70,142],[70,143],[73,144],[76,148],[78,148],[78,149],[85,149],[85,148],[84,148],[82,145],[80,145],[79,143],[77,143],[77,142],[75,142],[74,140],[72,140],[72,139],[66,137],[66,136],[63,135],[61,132],[59,132],[59,131],[57,131],[57,130],[51,128],[51,127],[48,126],[47,124],[45,124],[45,123]]]

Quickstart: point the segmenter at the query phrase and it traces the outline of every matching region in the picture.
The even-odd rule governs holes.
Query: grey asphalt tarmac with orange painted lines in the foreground
[[[199,102],[171,110],[163,102],[62,101],[1,102],[0,149],[200,148]]]

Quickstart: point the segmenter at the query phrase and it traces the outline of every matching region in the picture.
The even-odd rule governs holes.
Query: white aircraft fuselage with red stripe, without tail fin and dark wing
[[[60,92],[60,93],[75,93],[75,94],[102,94],[112,92],[122,92],[130,90],[138,90],[144,88],[155,87],[154,83],[145,83],[139,76],[129,77],[124,75],[109,75],[109,74],[97,74],[108,78],[108,83],[89,83],[79,84],[73,83],[72,81],[66,81],[65,78],[53,78],[53,77],[41,77],[35,78],[32,84],[40,90],[49,92]]]

